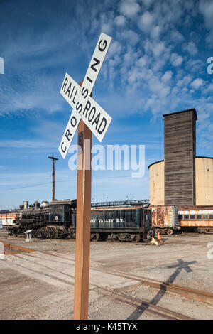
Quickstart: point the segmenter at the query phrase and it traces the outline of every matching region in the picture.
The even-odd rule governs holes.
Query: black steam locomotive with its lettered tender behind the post
[[[45,205],[44,205],[45,204]],[[62,239],[75,237],[76,200],[52,203],[34,203],[30,208],[20,206],[15,225],[8,227],[10,235],[20,235],[33,230],[33,237]],[[153,235],[151,210],[143,205],[125,205],[91,209],[91,239],[136,241]]]

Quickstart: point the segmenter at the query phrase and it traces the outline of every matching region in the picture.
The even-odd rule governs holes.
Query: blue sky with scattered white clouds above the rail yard
[[[101,31],[113,38],[93,90],[113,118],[102,144],[146,145],[146,173],[93,171],[92,199],[148,198],[162,114],[195,108],[197,155],[212,156],[212,17],[207,0],[0,0],[0,208],[51,200],[49,155],[55,198],[76,198],[76,171],[58,152],[72,111],[60,87],[65,72],[84,78]]]

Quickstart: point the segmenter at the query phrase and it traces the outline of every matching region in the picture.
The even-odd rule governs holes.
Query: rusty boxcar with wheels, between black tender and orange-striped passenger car
[[[172,235],[180,230],[177,205],[151,205],[152,226],[155,232]]]

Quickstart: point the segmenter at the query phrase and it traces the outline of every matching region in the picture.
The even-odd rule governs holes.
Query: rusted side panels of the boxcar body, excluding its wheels
[[[152,205],[150,208],[153,227],[179,226],[177,205]]]

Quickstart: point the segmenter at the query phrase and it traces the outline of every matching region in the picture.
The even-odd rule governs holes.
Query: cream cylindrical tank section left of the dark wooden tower
[[[149,169],[149,202],[164,205],[164,161],[157,161]]]

